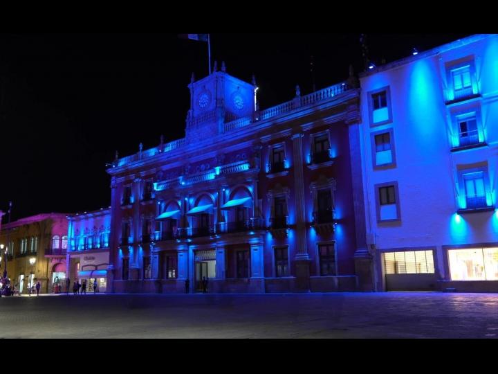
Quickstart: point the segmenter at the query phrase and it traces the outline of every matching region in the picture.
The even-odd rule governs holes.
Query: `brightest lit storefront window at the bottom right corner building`
[[[452,281],[497,281],[498,248],[448,251]]]

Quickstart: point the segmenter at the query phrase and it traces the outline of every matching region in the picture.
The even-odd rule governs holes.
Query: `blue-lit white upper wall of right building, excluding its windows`
[[[461,62],[474,64],[474,94],[452,102],[448,71]],[[448,278],[443,246],[498,241],[498,37],[474,37],[454,43],[441,53],[413,57],[386,71],[361,78],[362,159],[365,170],[367,234],[379,252],[433,247],[436,267]],[[371,126],[369,92],[389,87],[392,121]],[[477,90],[477,91],[476,91]],[[477,109],[479,136],[486,145],[452,149],[459,145],[454,117]],[[396,166],[374,170],[371,133],[392,129]],[[462,170],[486,168],[488,211],[458,214],[465,206]],[[460,181],[459,181],[460,179]],[[378,222],[376,184],[398,183],[400,220]],[[380,257],[379,257],[380,258]]]

